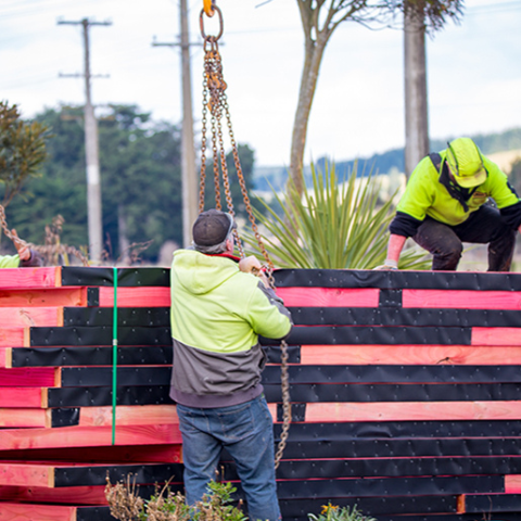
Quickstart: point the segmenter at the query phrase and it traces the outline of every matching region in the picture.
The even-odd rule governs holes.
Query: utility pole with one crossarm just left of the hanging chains
[[[158,43],[154,47],[180,47],[182,82],[182,135],[181,135],[181,181],[182,181],[182,244],[192,242],[192,225],[198,217],[198,182],[195,175],[195,147],[193,144],[192,79],[190,67],[190,43],[188,30],[187,0],[180,0],[180,43]]]

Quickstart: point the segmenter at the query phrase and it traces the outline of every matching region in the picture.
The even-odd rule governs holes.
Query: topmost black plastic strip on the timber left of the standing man
[[[167,268],[117,269],[117,285],[120,287],[167,287],[169,284],[170,270]],[[62,285],[114,285],[114,269],[63,266]]]

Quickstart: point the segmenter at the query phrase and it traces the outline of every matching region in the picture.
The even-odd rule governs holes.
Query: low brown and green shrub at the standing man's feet
[[[119,521],[246,521],[240,508],[231,505],[236,488],[231,483],[208,483],[209,494],[194,506],[186,504],[180,492],[174,493],[165,485],[144,500],[138,494],[136,482],[127,476],[126,482],[112,485],[106,479],[105,497],[111,516]]]

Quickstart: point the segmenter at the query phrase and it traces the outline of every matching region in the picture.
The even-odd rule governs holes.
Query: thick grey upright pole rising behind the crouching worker
[[[404,20],[405,174],[429,153],[425,25],[412,10]]]

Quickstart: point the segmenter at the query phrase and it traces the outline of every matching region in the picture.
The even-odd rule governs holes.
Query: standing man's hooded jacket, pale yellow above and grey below
[[[226,407],[263,392],[258,335],[282,339],[288,309],[237,262],[194,250],[174,253],[170,271],[174,364],[170,396],[189,407]]]

